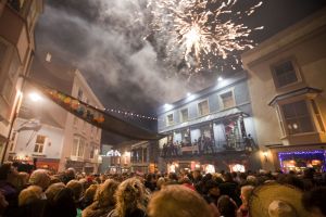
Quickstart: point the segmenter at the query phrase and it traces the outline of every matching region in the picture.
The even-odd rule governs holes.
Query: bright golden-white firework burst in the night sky
[[[236,56],[235,51],[253,48],[248,36],[263,27],[250,29],[235,21],[254,13],[262,2],[244,12],[233,12],[237,0],[150,0],[148,7],[153,16],[152,28],[164,42],[167,59],[184,61],[188,68],[200,71],[216,67],[212,63],[218,59]]]

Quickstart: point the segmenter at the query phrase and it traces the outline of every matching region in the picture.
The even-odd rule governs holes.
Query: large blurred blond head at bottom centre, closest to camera
[[[206,202],[197,192],[178,184],[153,194],[148,205],[150,217],[210,217]]]

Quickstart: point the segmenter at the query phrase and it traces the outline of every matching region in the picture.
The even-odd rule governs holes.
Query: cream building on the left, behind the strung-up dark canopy
[[[68,94],[87,104],[102,108],[85,78],[78,69],[71,72]],[[57,87],[58,88],[58,87]],[[35,90],[24,89],[27,94]],[[34,124],[34,123],[38,123]],[[32,124],[30,124],[32,123]],[[37,166],[61,171],[68,167],[77,171],[98,171],[101,129],[74,116],[41,95],[38,102],[24,98],[22,110],[13,127],[9,148],[9,158],[32,163]]]

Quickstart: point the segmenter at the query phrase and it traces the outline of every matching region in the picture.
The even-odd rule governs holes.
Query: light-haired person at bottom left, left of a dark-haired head
[[[38,186],[29,186],[24,189],[18,196],[18,216],[42,217],[47,202],[42,195],[42,188]]]

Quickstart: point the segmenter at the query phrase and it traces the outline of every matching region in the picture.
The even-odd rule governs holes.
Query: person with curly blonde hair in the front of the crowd
[[[123,181],[115,192],[115,208],[108,217],[145,217],[145,187],[137,178]]]

